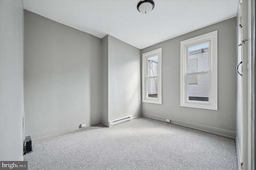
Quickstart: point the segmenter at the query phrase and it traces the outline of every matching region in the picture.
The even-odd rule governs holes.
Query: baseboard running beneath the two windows
[[[160,116],[145,114],[145,113],[143,113],[142,116],[143,117],[148,117],[148,118],[151,118],[151,119],[156,119],[158,121],[164,121],[164,122],[166,122],[166,119],[170,119],[170,118],[167,118],[167,117],[160,117]],[[180,125],[180,126],[183,126],[183,127],[188,127],[188,128],[208,132],[208,133],[211,133],[211,134],[216,134],[218,136],[223,136],[225,138],[230,138],[230,139],[235,139],[236,138],[236,132],[231,131],[231,130],[225,130],[225,129],[215,128],[215,127],[208,127],[208,126],[205,126],[205,125],[189,123],[189,122],[180,121],[180,120],[176,120],[176,119],[170,119],[170,123],[174,124],[174,125]]]

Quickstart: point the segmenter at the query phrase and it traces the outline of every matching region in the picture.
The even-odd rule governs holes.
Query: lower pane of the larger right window
[[[209,73],[188,75],[188,100],[209,101]],[[191,83],[194,78],[197,83]]]

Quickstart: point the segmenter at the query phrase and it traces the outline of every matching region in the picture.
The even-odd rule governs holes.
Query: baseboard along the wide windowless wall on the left
[[[32,141],[34,142],[34,141],[50,138],[52,136],[57,136],[60,134],[79,130],[80,129],[79,126],[83,123],[86,123],[86,127],[90,127],[90,126],[97,125],[97,124],[101,123],[101,119],[93,119],[90,121],[76,123],[74,125],[69,125],[66,127],[55,128],[55,129],[47,130],[44,132],[38,132],[38,133],[34,133],[34,134],[26,134],[26,136],[30,136]]]

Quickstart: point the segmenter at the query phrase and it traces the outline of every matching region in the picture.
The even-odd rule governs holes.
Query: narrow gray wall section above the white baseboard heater
[[[108,120],[141,116],[140,49],[108,36]]]

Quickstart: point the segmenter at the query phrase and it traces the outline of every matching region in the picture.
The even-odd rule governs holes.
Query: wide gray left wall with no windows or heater
[[[101,39],[24,11],[25,134],[101,122]]]

